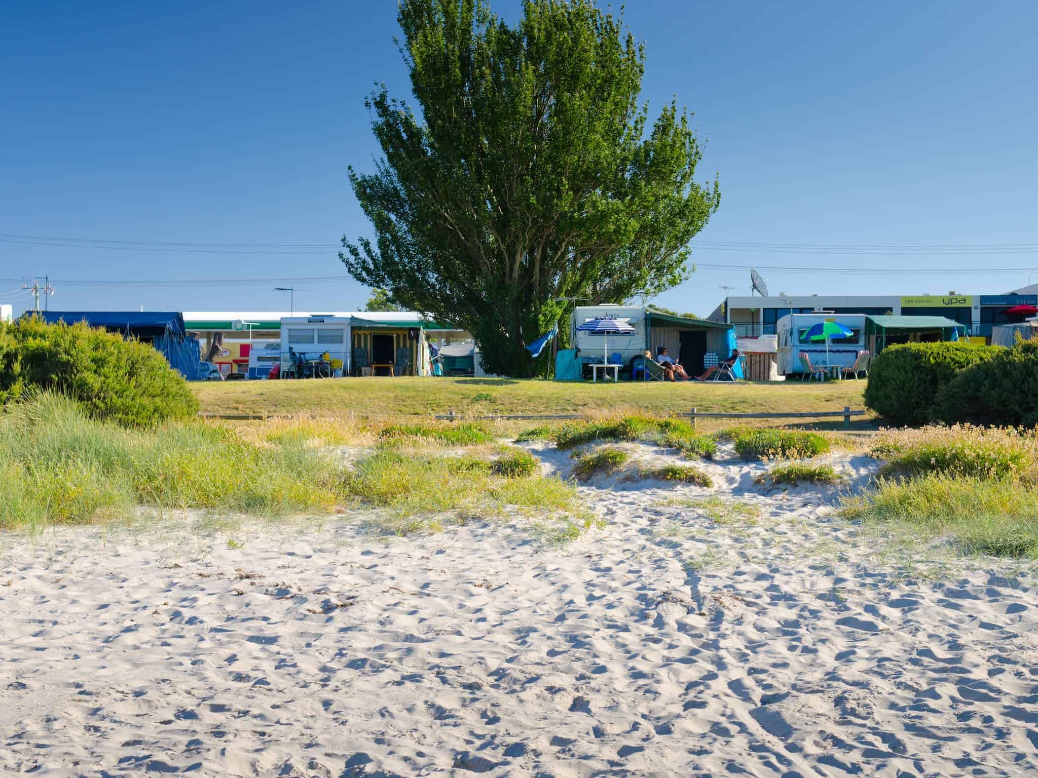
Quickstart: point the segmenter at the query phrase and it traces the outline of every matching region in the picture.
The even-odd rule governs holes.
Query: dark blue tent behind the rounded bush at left
[[[138,340],[151,341],[170,366],[188,381],[201,381],[200,345],[197,338],[187,337],[184,316],[172,311],[26,311],[25,315],[38,316],[48,324],[64,322],[73,325],[84,322],[89,327],[100,327]]]

